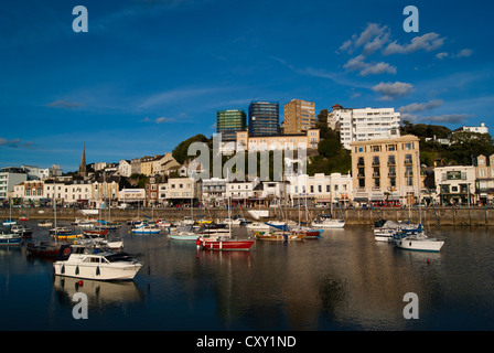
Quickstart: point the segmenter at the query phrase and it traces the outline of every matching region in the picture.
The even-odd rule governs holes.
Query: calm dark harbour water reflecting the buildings
[[[49,238],[28,224],[33,240]],[[83,287],[23,247],[0,248],[0,330],[493,330],[494,229],[442,231],[439,254],[375,242],[369,227],[197,253],[193,242],[124,226],[116,234],[144,267],[131,282]],[[87,320],[73,319],[77,291],[88,296]],[[417,320],[404,318],[407,292],[419,298]]]

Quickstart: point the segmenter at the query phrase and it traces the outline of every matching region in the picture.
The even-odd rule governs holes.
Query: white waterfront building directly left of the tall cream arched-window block
[[[352,175],[315,173],[314,175],[287,175],[289,181],[288,195],[291,205],[325,205],[347,204],[352,201]]]

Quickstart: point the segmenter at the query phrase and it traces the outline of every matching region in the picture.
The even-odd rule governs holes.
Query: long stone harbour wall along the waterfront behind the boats
[[[30,220],[54,220],[52,208],[1,208],[0,218],[9,218],[12,212],[12,218],[19,220],[21,216],[26,216]],[[288,218],[298,222],[314,220],[320,214],[327,214],[329,210],[312,208],[308,213],[300,212],[297,208],[283,210],[282,217],[280,217],[279,210],[269,210],[269,217],[262,221]],[[204,217],[210,220],[224,218],[228,216],[228,211],[224,208],[154,208],[154,210],[111,210],[111,221],[127,221],[142,218],[143,215],[153,216],[153,218],[164,218],[168,221],[180,221],[185,216],[194,215],[194,218]],[[472,208],[451,208],[451,207],[422,207],[421,212],[418,208],[374,208],[374,210],[343,210],[343,215],[347,225],[373,225],[378,220],[406,221],[410,218],[412,222],[419,222],[421,214],[422,224],[426,226],[493,226],[494,225],[494,208],[472,207]],[[245,217],[247,220],[255,220],[247,210],[233,210],[232,215]],[[341,212],[335,212],[335,217],[340,217]],[[75,218],[86,218],[77,208],[57,208],[56,217],[60,221],[74,221]],[[98,217],[98,215],[94,215]],[[103,216],[101,216],[103,217]]]

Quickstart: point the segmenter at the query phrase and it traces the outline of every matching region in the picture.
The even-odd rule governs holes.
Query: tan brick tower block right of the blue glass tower
[[[303,133],[315,128],[315,104],[292,99],[283,106],[283,135]]]

